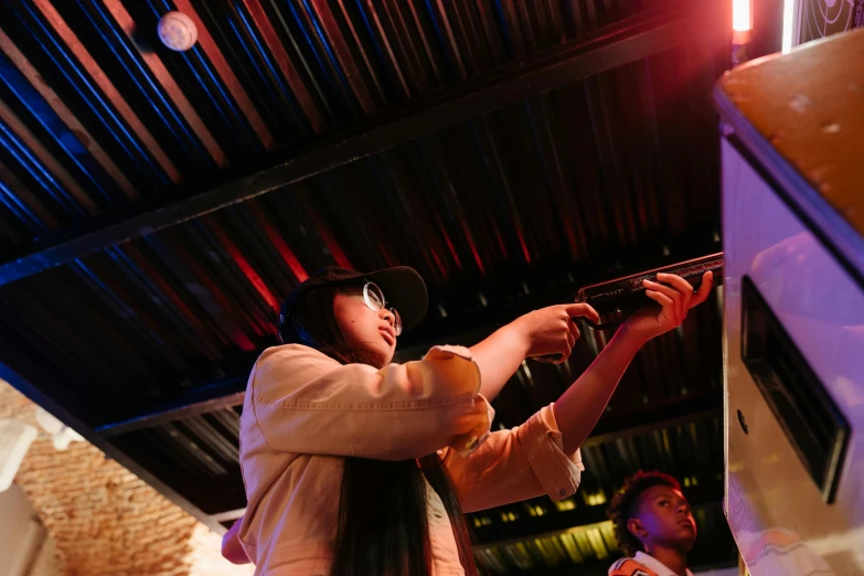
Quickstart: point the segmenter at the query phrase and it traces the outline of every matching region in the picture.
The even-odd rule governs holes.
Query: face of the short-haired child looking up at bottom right
[[[690,503],[680,490],[652,486],[639,497],[634,520],[636,536],[650,545],[663,545],[687,552],[696,541],[696,521]],[[632,522],[632,521],[631,521]]]

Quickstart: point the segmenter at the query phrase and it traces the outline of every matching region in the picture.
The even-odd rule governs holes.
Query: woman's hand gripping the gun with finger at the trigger
[[[562,354],[562,361],[570,355],[579,329],[572,318],[587,317],[600,321],[597,311],[587,303],[550,306],[534,310],[513,321],[513,328],[525,339],[525,358]]]

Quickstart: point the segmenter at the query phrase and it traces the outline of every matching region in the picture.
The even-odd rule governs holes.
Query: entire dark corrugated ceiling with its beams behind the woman
[[[781,4],[757,8],[753,56],[779,49]],[[172,9],[188,52],[156,35]],[[316,268],[420,271],[406,360],[721,250],[726,1],[4,2],[0,30],[0,376],[215,530],[245,505],[248,369]],[[491,572],[605,574],[605,505],[640,468],[686,487],[694,565],[735,563],[721,301],[639,354],[576,497],[472,514]],[[583,333],[522,366],[495,427],[609,338]]]

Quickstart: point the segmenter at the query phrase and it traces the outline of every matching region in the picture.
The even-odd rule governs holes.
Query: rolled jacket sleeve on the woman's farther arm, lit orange
[[[445,456],[447,470],[466,512],[547,494],[563,500],[582,480],[579,450],[564,454],[553,405],[522,426],[492,433],[474,452]]]

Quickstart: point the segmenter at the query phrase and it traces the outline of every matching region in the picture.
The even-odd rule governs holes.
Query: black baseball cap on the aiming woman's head
[[[314,274],[291,290],[291,294],[282,301],[282,306],[279,309],[279,327],[288,318],[288,312],[290,312],[300,297],[309,290],[322,286],[351,284],[354,280],[375,282],[384,292],[387,306],[395,308],[399,312],[402,327],[405,330],[409,330],[420,323],[423,317],[426,316],[426,307],[429,303],[426,282],[423,281],[423,277],[414,268],[396,266],[386,270],[364,274],[331,266],[316,270]]]

